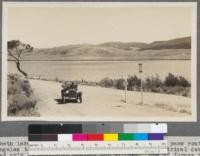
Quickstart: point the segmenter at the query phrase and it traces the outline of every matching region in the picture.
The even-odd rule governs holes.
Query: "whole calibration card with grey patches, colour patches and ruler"
[[[110,130],[88,125],[30,125],[31,155],[166,154],[166,124],[114,124]],[[91,125],[90,125],[91,126]],[[85,128],[84,128],[85,127]],[[115,129],[113,129],[115,127]],[[45,151],[45,152],[44,152]]]

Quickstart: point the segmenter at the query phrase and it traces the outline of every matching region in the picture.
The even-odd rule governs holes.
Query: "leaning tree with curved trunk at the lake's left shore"
[[[20,61],[24,54],[33,51],[33,47],[29,44],[22,43],[19,40],[12,40],[7,42],[7,50],[8,55],[14,59],[19,72],[27,77],[27,73],[21,69]]]

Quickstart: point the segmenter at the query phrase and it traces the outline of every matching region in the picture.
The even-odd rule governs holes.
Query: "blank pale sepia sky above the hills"
[[[9,7],[7,40],[35,48],[191,36],[191,7]]]

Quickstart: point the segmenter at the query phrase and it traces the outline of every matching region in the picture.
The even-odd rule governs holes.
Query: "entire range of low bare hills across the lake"
[[[138,60],[138,59],[190,59],[191,37],[167,41],[106,42],[102,44],[76,44],[53,48],[35,48],[24,60]]]

